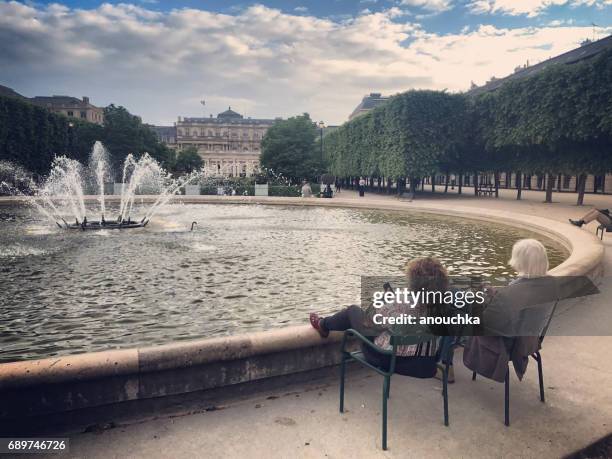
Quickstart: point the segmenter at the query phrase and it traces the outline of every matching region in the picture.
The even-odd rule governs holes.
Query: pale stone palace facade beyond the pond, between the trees
[[[196,148],[204,169],[213,174],[250,176],[259,167],[261,139],[278,119],[245,118],[231,107],[216,118],[179,117],[174,147]]]

